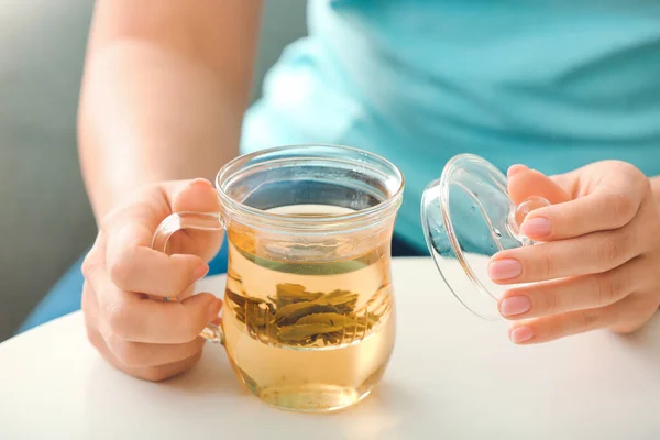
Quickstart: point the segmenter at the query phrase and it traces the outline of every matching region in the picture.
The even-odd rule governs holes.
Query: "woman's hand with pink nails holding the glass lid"
[[[598,162],[565,175],[516,165],[509,194],[519,204],[541,196],[521,232],[542,243],[491,260],[507,290],[501,314],[515,322],[515,343],[538,343],[594,329],[639,329],[660,305],[660,204],[649,179],[623,162]]]

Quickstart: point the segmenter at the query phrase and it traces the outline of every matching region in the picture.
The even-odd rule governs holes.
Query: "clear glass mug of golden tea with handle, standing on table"
[[[367,396],[395,340],[391,243],[404,178],[360,150],[293,145],[239,157],[218,173],[222,211],[178,212],[180,229],[227,231],[221,342],[239,380],[262,400],[329,411]]]

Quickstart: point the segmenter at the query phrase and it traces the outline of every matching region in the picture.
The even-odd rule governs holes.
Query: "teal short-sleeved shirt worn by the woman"
[[[338,143],[406,177],[397,233],[453,155],[548,174],[619,158],[660,174],[660,2],[312,0],[271,70],[243,152]]]

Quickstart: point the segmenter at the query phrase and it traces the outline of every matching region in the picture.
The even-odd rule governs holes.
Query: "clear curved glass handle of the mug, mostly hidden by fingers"
[[[152,240],[152,249],[167,253],[167,243],[172,235],[183,229],[195,229],[200,231],[223,231],[224,222],[219,213],[213,212],[175,212],[158,226]],[[176,298],[166,297],[166,301]],[[209,342],[224,344],[224,333],[219,326],[208,323],[199,334]]]

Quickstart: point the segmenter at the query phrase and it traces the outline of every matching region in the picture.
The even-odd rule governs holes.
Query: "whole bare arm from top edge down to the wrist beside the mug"
[[[212,178],[235,156],[260,2],[99,0],[78,117],[97,221],[153,182]]]

